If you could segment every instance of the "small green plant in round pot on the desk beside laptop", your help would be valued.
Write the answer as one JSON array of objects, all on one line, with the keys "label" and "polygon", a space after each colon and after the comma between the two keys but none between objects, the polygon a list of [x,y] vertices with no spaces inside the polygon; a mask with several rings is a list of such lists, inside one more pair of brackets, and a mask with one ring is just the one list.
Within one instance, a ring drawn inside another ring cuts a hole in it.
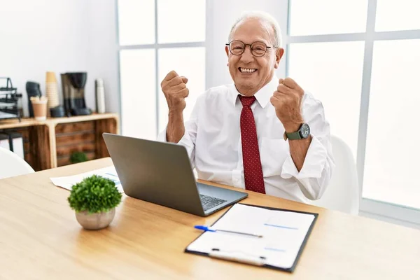
[{"label": "small green plant in round pot on the desk beside laptop", "polygon": [[86,230],[106,228],[113,220],[115,207],[121,202],[116,183],[102,176],[92,175],[71,187],[68,201],[76,211],[76,219]]}]

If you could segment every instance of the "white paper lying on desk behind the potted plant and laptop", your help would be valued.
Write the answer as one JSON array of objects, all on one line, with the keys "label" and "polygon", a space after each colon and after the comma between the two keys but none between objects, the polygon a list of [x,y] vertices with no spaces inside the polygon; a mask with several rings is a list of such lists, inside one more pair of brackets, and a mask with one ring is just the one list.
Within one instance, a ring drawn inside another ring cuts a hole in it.
[{"label": "white paper lying on desk behind the potted plant and laptop", "polygon": [[118,179],[116,169],[113,166],[105,167],[102,169],[96,169],[91,172],[86,172],[83,174],[78,174],[78,175],[73,175],[73,176],[53,177],[53,178],[50,178],[50,180],[57,187],[71,190],[71,186],[83,181],[83,179],[92,175],[99,175],[104,178],[111,179],[112,181],[114,181],[114,183],[116,183],[116,187],[118,188],[118,191],[120,193],[124,193],[123,186],[121,186],[120,179]]}]

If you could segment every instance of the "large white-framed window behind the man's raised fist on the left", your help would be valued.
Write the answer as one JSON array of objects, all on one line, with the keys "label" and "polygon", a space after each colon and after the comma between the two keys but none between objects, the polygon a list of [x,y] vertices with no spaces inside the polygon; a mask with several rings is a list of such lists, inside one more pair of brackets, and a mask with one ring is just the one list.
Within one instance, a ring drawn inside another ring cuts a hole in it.
[{"label": "large white-framed window behind the man's raised fist on the left", "polygon": [[123,135],[156,139],[165,129],[160,82],[172,70],[188,78],[188,119],[205,90],[205,30],[205,0],[118,0]]}]

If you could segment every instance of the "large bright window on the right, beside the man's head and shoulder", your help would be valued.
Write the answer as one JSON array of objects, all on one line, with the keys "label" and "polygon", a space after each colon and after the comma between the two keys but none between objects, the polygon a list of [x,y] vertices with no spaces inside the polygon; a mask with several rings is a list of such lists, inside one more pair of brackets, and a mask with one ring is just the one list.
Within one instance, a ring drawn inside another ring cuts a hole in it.
[{"label": "large bright window on the right, beside the man's head and shoulder", "polygon": [[420,1],[288,3],[286,71],[351,147],[361,210],[418,222]]}]

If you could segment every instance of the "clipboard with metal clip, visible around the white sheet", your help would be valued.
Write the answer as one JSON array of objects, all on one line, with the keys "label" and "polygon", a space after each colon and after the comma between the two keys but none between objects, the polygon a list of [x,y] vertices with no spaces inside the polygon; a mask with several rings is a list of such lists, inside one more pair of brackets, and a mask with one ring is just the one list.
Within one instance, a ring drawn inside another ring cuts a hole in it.
[{"label": "clipboard with metal clip, visible around the white sheet", "polygon": [[[307,244],[307,240],[309,239],[309,236],[311,235],[311,232],[314,228],[314,225],[316,223],[316,219],[318,218],[318,214],[317,213],[311,213],[311,212],[304,212],[304,211],[294,211],[294,210],[289,210],[289,209],[280,209],[280,208],[273,208],[273,207],[262,207],[259,205],[252,205],[252,204],[241,204],[241,203],[237,203],[239,205],[243,205],[245,207],[256,207],[258,209],[267,209],[267,210],[271,210],[271,211],[281,211],[281,212],[286,212],[286,213],[295,213],[295,214],[305,214],[309,216],[313,217],[313,220],[311,221],[309,228],[307,229],[306,234],[304,235],[302,244],[300,244],[300,248],[298,248],[297,251],[297,255],[295,256],[294,260],[293,260],[293,265],[291,265],[290,267],[281,267],[281,266],[277,266],[277,265],[269,265],[267,264],[265,258],[260,255],[244,255],[243,253],[235,253],[235,252],[228,252],[228,251],[223,251],[219,250],[216,248],[213,248],[214,251],[211,251],[210,253],[204,253],[202,251],[199,250],[193,250],[193,249],[189,249],[190,246],[192,246],[192,244],[194,244],[198,239],[202,238],[204,234],[206,234],[206,232],[202,232],[202,234],[197,237],[194,241],[192,241],[185,249],[185,253],[193,253],[193,254],[197,254],[197,255],[205,255],[211,258],[219,258],[219,259],[223,259],[223,260],[230,260],[230,261],[235,261],[235,262],[241,262],[241,263],[245,263],[248,265],[256,265],[256,266],[260,266],[260,267],[268,267],[270,269],[276,269],[276,270],[281,270],[284,272],[293,272],[297,266],[297,262],[300,259],[300,255],[302,255],[302,251],[304,250],[304,247]],[[235,207],[234,204],[232,207],[230,207],[230,209],[228,211],[226,211],[220,218],[218,218],[218,220],[216,222],[213,223],[213,225],[216,225],[216,223],[218,223],[219,221],[221,221],[226,215],[228,215],[230,213],[230,211]],[[212,225],[212,226],[213,226]],[[286,228],[286,227],[285,227]]]}]

